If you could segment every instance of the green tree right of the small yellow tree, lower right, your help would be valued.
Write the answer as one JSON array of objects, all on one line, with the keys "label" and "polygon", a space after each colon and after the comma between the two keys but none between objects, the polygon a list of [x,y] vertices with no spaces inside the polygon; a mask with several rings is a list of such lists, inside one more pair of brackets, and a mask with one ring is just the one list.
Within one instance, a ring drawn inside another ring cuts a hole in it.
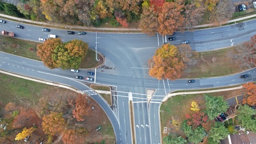
[{"label": "green tree right of the small yellow tree, lower right", "polygon": [[209,116],[209,120],[227,111],[229,107],[228,102],[223,100],[223,96],[213,97],[205,94],[205,101],[205,113]]}]

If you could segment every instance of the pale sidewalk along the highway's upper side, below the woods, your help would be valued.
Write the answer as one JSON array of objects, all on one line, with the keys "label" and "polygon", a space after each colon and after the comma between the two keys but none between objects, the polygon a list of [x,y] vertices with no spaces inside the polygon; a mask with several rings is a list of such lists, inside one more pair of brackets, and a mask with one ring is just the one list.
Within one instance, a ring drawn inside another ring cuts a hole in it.
[{"label": "pale sidewalk along the highway's upper side, below the woods", "polygon": [[[129,28],[94,28],[94,27],[86,27],[86,26],[69,26],[65,24],[56,24],[56,23],[48,23],[48,22],[39,22],[39,21],[31,21],[31,20],[26,20],[23,18],[18,18],[18,17],[13,17],[13,16],[7,16],[5,14],[0,14],[0,17],[2,18],[9,18],[12,20],[18,20],[20,22],[29,22],[31,24],[39,24],[39,25],[46,25],[46,26],[58,26],[59,28],[70,28],[70,29],[86,29],[86,31],[95,31],[95,30],[103,30],[103,31],[134,31],[134,32],[141,32],[141,29],[129,29]],[[236,21],[241,21],[241,20],[247,20],[248,18],[253,18],[256,17],[256,14],[253,14],[251,16],[246,16],[242,18],[237,18],[235,20],[230,20],[227,22],[224,22],[223,24],[228,24],[230,22],[236,22]],[[208,26],[213,26],[213,24],[204,24],[204,25],[197,25],[194,26],[194,28],[204,28]]]}]

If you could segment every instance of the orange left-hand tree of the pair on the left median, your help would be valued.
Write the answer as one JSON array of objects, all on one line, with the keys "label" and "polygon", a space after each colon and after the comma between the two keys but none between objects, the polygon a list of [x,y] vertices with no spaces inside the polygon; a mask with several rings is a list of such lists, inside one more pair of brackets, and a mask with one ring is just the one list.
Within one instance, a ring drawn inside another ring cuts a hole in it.
[{"label": "orange left-hand tree of the pair on the left median", "polygon": [[52,59],[52,54],[56,47],[61,46],[63,43],[60,38],[47,39],[43,44],[37,46],[37,55],[43,61],[44,65],[50,69],[57,67],[57,63]]}]

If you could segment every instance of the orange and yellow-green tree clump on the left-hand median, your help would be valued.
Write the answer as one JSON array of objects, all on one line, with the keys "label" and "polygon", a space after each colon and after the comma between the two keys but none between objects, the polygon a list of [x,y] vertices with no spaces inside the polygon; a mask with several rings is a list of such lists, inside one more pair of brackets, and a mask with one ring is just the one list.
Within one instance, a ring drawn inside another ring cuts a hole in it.
[{"label": "orange and yellow-green tree clump on the left-hand median", "polygon": [[61,39],[47,39],[37,46],[37,55],[50,69],[78,69],[88,50],[88,44],[82,40],[63,43]]}]

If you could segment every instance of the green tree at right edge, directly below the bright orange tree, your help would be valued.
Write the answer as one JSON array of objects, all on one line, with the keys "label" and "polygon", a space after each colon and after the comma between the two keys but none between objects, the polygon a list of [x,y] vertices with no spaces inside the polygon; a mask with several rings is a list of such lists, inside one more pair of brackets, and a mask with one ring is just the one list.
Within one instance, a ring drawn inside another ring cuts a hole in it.
[{"label": "green tree at right edge, directly below the bright orange tree", "polygon": [[236,115],[240,122],[242,122],[242,127],[256,132],[256,120],[254,118],[254,115],[256,115],[255,109],[250,108],[248,105],[239,105]]}]

